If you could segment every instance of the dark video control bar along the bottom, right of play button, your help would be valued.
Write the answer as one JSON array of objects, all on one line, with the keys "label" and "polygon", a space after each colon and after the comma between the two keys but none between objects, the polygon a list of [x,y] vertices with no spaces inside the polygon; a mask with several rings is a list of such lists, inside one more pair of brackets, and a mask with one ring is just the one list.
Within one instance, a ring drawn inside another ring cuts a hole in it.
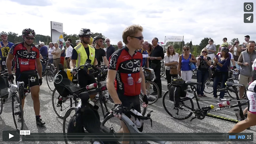
[{"label": "dark video control bar along the bottom, right of play button", "polygon": [[[230,136],[231,135],[231,136]],[[235,135],[235,136],[234,136]],[[22,136],[22,141],[64,141],[63,133],[31,133]],[[124,138],[124,139],[122,139]],[[127,138],[127,139],[126,139]],[[70,133],[67,141],[253,141],[253,133]]]}]

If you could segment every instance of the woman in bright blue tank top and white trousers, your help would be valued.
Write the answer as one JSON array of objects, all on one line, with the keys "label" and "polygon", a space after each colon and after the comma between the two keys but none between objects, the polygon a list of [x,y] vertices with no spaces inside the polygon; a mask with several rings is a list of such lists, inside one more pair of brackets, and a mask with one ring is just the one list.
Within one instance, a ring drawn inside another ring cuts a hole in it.
[{"label": "woman in bright blue tank top and white trousers", "polygon": [[196,58],[193,54],[190,54],[190,47],[184,46],[183,47],[184,54],[180,55],[179,58],[179,75],[185,81],[191,81],[193,72],[189,66],[190,62],[196,63]]}]

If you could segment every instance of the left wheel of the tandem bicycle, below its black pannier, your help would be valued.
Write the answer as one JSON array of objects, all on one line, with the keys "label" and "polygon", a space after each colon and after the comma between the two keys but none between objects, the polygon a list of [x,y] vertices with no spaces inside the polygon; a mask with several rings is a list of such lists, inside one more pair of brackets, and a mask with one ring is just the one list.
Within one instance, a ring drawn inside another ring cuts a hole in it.
[{"label": "left wheel of the tandem bicycle, below its black pannier", "polygon": [[[169,91],[166,91],[165,93],[164,93],[164,96],[163,96],[163,106],[164,106],[164,110],[170,115],[170,116],[172,116],[173,118],[175,118],[175,119],[177,119],[177,120],[186,120],[186,119],[188,119],[188,118],[190,118],[190,116],[192,116],[192,112],[190,112],[189,114],[188,114],[188,116],[185,116],[184,118],[178,118],[178,117],[176,117],[176,116],[174,116],[174,114],[171,114],[168,110],[167,110],[167,107],[166,106],[170,106],[170,104],[165,104],[165,98],[167,98],[168,99],[168,96],[167,95],[169,95]],[[169,99],[168,99],[169,100]],[[185,100],[185,101],[190,101],[190,103],[191,103],[191,108],[192,109],[194,109],[194,103],[193,103],[193,101],[192,101],[192,99],[187,99],[187,100]],[[171,101],[171,100],[169,100],[169,101]],[[174,102],[173,102],[173,104],[174,104]],[[180,103],[181,104],[181,103]],[[174,105],[173,105],[174,106]],[[179,108],[178,108],[179,109]],[[181,110],[181,109],[179,109],[179,110]]]}]

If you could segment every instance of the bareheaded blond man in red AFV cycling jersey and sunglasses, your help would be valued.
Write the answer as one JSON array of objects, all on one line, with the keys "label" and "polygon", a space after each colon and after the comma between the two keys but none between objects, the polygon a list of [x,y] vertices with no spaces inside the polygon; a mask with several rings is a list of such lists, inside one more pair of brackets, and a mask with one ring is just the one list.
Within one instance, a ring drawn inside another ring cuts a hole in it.
[{"label": "bareheaded blond man in red AFV cycling jersey and sunglasses", "polygon": [[[134,109],[140,112],[140,90],[144,94],[142,106],[148,106],[145,78],[142,72],[142,54],[138,52],[144,41],[142,30],[142,26],[138,25],[127,27],[122,35],[126,46],[110,56],[107,88],[115,103],[112,112],[118,118],[121,118],[124,106],[129,107],[131,103],[134,104]],[[126,116],[131,118],[130,114],[126,114]],[[129,130],[124,122],[121,121],[121,125],[122,128],[119,132],[128,133]]]}]

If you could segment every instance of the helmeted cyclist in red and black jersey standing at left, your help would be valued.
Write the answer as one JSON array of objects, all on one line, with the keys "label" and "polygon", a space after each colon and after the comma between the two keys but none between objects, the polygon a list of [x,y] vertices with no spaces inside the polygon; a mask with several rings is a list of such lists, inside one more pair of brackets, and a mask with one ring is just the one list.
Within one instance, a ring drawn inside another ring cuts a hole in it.
[{"label": "helmeted cyclist in red and black jersey standing at left", "polygon": [[[17,43],[10,48],[10,52],[6,59],[6,67],[8,69],[8,80],[14,79],[12,75],[12,59],[16,61],[16,82],[23,81],[24,87],[28,86],[28,79],[30,80],[30,92],[34,102],[34,111],[36,114],[36,124],[43,126],[45,122],[40,119],[40,101],[39,101],[39,86],[42,85],[42,65],[39,58],[39,50],[33,44],[35,37],[34,30],[26,28],[22,31],[23,42]],[[36,69],[38,73],[36,72]],[[38,78],[38,74],[39,77]],[[22,99],[22,109],[24,108],[25,94]]]}]

